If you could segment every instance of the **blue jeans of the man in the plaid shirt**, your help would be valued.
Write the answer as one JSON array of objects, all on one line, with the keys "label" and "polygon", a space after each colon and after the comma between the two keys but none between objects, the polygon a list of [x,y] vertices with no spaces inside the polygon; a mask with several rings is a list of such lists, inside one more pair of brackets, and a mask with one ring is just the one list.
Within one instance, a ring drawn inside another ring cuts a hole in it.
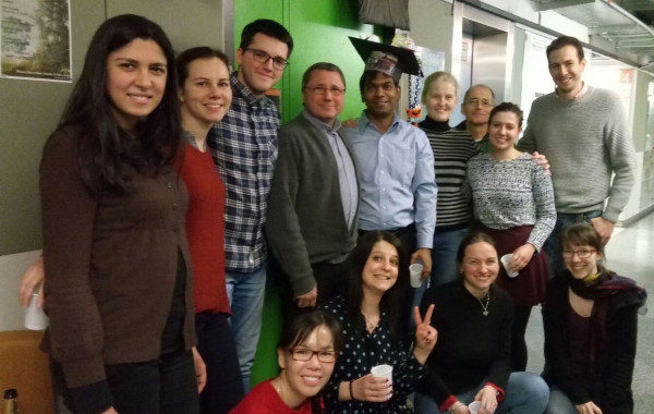
[{"label": "blue jeans of the man in the plaid shirt", "polygon": [[225,279],[232,310],[230,317],[231,331],[237,344],[243,390],[247,393],[256,345],[262,330],[262,312],[266,292],[266,266],[264,265],[261,269],[251,273],[228,271]]}]

